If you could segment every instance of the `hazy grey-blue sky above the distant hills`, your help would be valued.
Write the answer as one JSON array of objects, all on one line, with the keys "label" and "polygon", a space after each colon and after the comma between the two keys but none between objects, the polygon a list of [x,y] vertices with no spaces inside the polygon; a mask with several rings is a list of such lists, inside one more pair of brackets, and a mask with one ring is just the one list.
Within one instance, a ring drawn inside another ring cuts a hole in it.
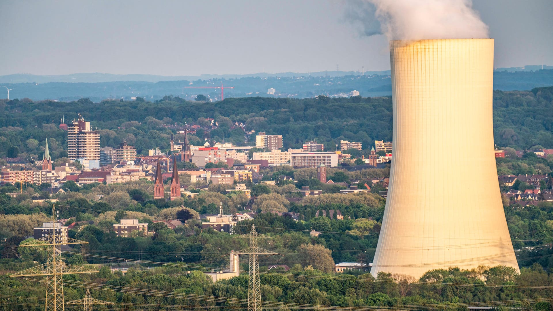
[{"label": "hazy grey-blue sky above the distant hills", "polygon": [[[0,0],[0,75],[387,70],[387,39],[346,14],[358,2]],[[473,7],[495,38],[495,67],[553,65],[553,1]]]}]

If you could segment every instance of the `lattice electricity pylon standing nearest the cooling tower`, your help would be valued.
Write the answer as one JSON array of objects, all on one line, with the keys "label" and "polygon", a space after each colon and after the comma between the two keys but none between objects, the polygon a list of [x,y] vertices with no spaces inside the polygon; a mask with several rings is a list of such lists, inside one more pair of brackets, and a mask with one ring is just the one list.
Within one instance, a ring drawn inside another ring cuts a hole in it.
[{"label": "lattice electricity pylon standing nearest the cooling tower", "polygon": [[252,231],[241,237],[249,238],[249,247],[238,251],[237,254],[249,255],[249,275],[248,275],[248,311],[261,311],[261,286],[259,283],[259,257],[258,255],[278,255],[278,253],[265,250],[257,246],[257,239],[270,236],[258,234],[255,226],[252,225]]}]

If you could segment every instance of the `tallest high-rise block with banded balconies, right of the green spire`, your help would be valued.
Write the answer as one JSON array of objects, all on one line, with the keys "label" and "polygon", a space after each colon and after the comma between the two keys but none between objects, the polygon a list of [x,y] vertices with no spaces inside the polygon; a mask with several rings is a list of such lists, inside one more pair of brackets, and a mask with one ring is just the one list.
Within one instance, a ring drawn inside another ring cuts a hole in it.
[{"label": "tallest high-rise block with banded balconies, right of the green spire", "polygon": [[67,125],[67,157],[100,160],[100,132],[91,131],[90,122],[82,117]]}]

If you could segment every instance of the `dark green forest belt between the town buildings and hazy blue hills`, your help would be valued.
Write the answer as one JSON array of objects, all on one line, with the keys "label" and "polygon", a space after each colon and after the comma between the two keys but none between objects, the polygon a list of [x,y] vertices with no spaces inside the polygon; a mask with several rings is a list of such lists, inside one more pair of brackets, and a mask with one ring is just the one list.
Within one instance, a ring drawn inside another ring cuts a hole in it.
[{"label": "dark green forest belt between the town buildings and hazy blue hills", "polygon": [[[498,147],[515,149],[540,145],[553,148],[553,87],[532,91],[494,91],[494,137]],[[219,127],[199,131],[193,143],[205,138],[225,140],[237,145],[253,144],[234,122],[246,130],[282,134],[284,148],[301,148],[304,141],[316,139],[327,150],[335,149],[340,139],[358,141],[370,149],[374,140],[392,139],[392,100],[389,97],[331,99],[271,99],[267,97],[229,98],[224,101],[185,101],[165,96],[155,102],[102,101],[74,102],[29,99],[0,101],[0,157],[40,157],[46,137],[54,158],[62,157],[65,132],[58,128],[79,113],[91,121],[101,134],[101,146],[117,146],[127,141],[139,153],[150,148],[169,147],[174,129],[164,125],[202,123],[215,118]],[[179,137],[177,137],[179,138]]]}]

